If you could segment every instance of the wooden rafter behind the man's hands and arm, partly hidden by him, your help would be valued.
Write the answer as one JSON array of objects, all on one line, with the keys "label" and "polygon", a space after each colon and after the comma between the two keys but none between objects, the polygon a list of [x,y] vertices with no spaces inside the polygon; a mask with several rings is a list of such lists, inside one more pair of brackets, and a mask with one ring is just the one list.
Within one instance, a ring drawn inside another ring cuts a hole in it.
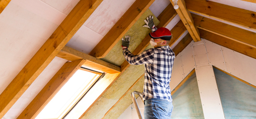
[{"label": "wooden rafter behind the man's hands and arm, partly hidden by him", "polygon": [[[157,19],[160,21],[160,23],[156,26],[156,28],[160,27],[166,27],[171,20],[177,15],[177,13],[174,11],[173,6],[169,4],[165,10],[157,17]],[[146,47],[150,44],[151,37],[147,35],[139,44],[139,46],[134,50],[133,54],[138,55],[141,52],[143,52]],[[121,65],[121,71],[124,71],[130,66],[130,64],[125,60]]]}]

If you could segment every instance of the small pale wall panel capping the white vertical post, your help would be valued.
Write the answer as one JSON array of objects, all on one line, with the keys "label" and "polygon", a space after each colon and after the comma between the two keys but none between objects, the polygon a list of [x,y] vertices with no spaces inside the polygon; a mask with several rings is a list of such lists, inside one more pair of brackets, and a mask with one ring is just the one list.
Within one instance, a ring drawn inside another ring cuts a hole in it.
[{"label": "small pale wall panel capping the white vertical post", "polygon": [[204,40],[192,43],[192,48],[196,62],[196,67],[210,65],[207,52],[205,49]]}]

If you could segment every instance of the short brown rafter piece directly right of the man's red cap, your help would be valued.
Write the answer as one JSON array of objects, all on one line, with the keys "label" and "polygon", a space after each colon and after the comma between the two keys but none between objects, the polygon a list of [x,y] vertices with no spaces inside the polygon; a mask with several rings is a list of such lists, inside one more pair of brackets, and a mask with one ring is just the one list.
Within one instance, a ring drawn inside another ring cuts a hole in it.
[{"label": "short brown rafter piece directly right of the man's red cap", "polygon": [[173,38],[172,38],[171,42],[169,43],[169,46],[171,47],[182,36],[182,34],[186,30],[187,29],[184,26],[183,22],[181,20],[178,21],[178,23],[175,25],[175,27],[171,30]]}]

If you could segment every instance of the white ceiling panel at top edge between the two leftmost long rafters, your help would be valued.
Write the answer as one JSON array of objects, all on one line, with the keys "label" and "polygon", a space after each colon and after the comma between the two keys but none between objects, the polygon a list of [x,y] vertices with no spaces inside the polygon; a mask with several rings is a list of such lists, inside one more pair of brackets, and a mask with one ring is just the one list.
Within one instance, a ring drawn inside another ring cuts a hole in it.
[{"label": "white ceiling panel at top edge between the two leftmost long rafters", "polygon": [[86,27],[105,36],[135,0],[103,0],[84,23]]}]

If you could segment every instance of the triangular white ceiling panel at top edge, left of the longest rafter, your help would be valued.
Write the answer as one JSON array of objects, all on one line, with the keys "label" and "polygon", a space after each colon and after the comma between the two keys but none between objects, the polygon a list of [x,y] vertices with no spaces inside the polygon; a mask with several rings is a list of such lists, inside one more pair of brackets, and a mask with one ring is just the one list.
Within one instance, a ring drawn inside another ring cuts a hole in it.
[{"label": "triangular white ceiling panel at top edge, left of the longest rafter", "polygon": [[41,0],[56,10],[68,14],[80,0]]}]

